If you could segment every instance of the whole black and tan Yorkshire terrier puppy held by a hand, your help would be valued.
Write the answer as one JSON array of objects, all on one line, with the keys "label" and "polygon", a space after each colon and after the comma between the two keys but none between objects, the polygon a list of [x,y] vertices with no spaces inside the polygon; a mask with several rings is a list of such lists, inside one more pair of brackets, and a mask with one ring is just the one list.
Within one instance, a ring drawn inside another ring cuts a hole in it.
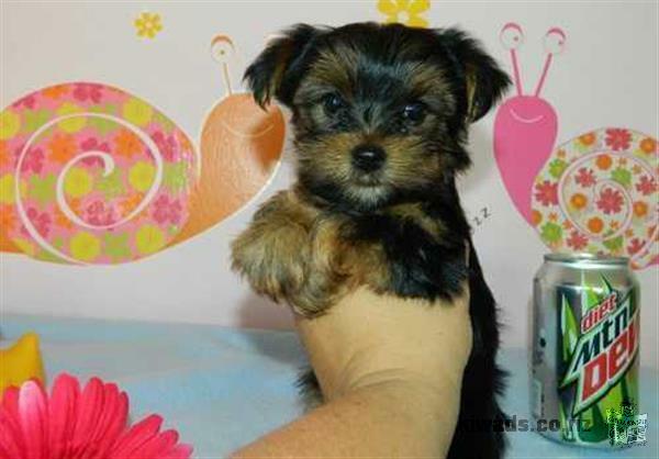
[{"label": "whole black and tan Yorkshire terrier puppy held by a hand", "polygon": [[309,317],[359,284],[432,301],[468,280],[473,350],[449,457],[502,457],[496,307],[455,182],[507,76],[458,30],[359,23],[293,26],[245,79],[259,104],[291,110],[298,181],[234,242],[234,268]]}]

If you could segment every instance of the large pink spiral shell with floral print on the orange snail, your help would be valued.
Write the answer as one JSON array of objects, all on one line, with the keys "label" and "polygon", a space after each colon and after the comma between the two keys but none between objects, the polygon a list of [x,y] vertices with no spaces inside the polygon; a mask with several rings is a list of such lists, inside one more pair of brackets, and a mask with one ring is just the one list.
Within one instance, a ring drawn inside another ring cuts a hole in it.
[{"label": "large pink spiral shell with floral print on the orange snail", "polygon": [[147,102],[74,82],[30,93],[0,116],[2,232],[21,251],[125,262],[167,246],[188,220],[194,150]]}]

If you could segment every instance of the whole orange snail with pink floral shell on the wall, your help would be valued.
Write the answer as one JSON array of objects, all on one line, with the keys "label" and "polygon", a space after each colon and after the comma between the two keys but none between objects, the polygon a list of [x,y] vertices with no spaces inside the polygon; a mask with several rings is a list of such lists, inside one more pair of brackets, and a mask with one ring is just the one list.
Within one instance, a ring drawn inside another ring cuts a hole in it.
[{"label": "whole orange snail with pink floral shell on the wall", "polygon": [[0,114],[0,249],[76,265],[136,260],[243,206],[275,173],[278,108],[233,94],[233,44],[213,40],[227,96],[209,114],[200,155],[144,100],[108,85],[34,91]]}]

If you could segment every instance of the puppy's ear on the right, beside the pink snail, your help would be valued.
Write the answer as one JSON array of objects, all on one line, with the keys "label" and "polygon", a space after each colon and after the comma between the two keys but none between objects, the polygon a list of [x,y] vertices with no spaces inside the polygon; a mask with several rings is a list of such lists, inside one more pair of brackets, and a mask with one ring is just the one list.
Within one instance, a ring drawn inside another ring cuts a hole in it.
[{"label": "puppy's ear on the right, beside the pink snail", "polygon": [[462,71],[467,121],[485,115],[511,85],[509,76],[488,55],[480,43],[465,32],[446,29],[438,32],[442,44]]}]

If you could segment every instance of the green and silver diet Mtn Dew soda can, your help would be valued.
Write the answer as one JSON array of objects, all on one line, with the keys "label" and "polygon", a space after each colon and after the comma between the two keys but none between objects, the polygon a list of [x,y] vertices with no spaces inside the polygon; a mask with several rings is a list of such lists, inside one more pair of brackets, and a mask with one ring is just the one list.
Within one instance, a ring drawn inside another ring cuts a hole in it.
[{"label": "green and silver diet Mtn Dew soda can", "polygon": [[639,305],[628,259],[545,256],[534,279],[530,413],[559,428],[536,430],[610,447],[607,414],[638,414]]}]

